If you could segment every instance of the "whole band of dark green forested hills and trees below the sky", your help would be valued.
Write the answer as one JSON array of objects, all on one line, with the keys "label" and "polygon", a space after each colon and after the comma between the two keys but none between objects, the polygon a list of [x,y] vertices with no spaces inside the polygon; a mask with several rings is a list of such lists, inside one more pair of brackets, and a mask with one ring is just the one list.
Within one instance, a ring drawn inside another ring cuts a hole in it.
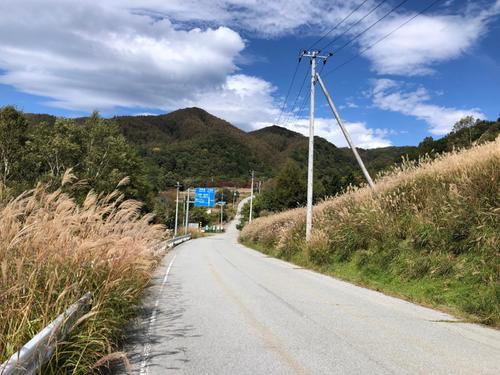
[{"label": "whole band of dark green forested hills and trees below the sky", "polygon": [[[9,107],[3,112],[20,116]],[[13,165],[14,170],[22,173],[13,170],[6,184],[15,192],[33,187],[40,177],[57,180],[68,167],[73,167],[79,178],[99,192],[111,191],[128,175],[132,178],[128,196],[144,201],[145,210],[153,210],[159,222],[173,228],[175,202],[172,194],[163,192],[172,190],[177,181],[181,189],[249,187],[253,169],[256,179],[265,182],[264,193],[270,192],[264,194],[265,200],[255,202],[256,215],[261,210],[279,211],[305,202],[305,188],[299,185],[306,175],[308,138],[279,126],[245,132],[200,108],[110,119],[95,114],[80,119],[43,114],[24,114],[24,118],[29,126],[18,124],[17,128],[26,129],[21,135],[9,134],[12,132],[8,128],[5,134],[8,147],[10,140],[17,138],[17,149],[28,150]],[[449,135],[438,140],[428,137],[418,146],[359,151],[375,175],[401,163],[403,157],[416,160],[424,154],[434,156],[457,147],[470,147],[474,142],[495,139],[500,132],[498,121],[465,120]],[[0,148],[2,133],[0,129]],[[316,137],[314,153],[315,200],[364,182],[351,150]],[[297,194],[283,201],[283,194],[273,192],[280,190],[280,181],[290,185],[291,179],[283,178],[289,172],[293,172],[291,182],[296,186],[292,190]]]}]

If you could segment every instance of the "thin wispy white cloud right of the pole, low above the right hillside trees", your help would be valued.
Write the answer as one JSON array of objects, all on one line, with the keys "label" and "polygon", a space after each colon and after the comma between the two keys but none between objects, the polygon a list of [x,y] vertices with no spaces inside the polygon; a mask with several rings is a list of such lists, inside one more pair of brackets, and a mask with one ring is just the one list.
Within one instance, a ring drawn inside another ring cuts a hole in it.
[{"label": "thin wispy white cloud right of the pole, low above the right hillside trees", "polygon": [[453,124],[464,116],[485,117],[477,108],[458,109],[429,104],[431,97],[424,87],[408,90],[402,82],[389,79],[378,79],[374,82],[372,97],[373,103],[380,109],[425,121],[434,135],[448,133]]}]

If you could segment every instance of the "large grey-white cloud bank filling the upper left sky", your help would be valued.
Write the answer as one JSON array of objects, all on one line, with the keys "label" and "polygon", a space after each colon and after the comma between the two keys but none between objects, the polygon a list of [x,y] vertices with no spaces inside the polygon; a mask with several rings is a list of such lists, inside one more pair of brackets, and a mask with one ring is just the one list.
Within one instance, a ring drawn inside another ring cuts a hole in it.
[{"label": "large grey-white cloud bank filling the upper left sky", "polygon": [[97,2],[0,3],[0,82],[70,109],[176,109],[223,86],[245,47],[226,28],[179,30]]}]

